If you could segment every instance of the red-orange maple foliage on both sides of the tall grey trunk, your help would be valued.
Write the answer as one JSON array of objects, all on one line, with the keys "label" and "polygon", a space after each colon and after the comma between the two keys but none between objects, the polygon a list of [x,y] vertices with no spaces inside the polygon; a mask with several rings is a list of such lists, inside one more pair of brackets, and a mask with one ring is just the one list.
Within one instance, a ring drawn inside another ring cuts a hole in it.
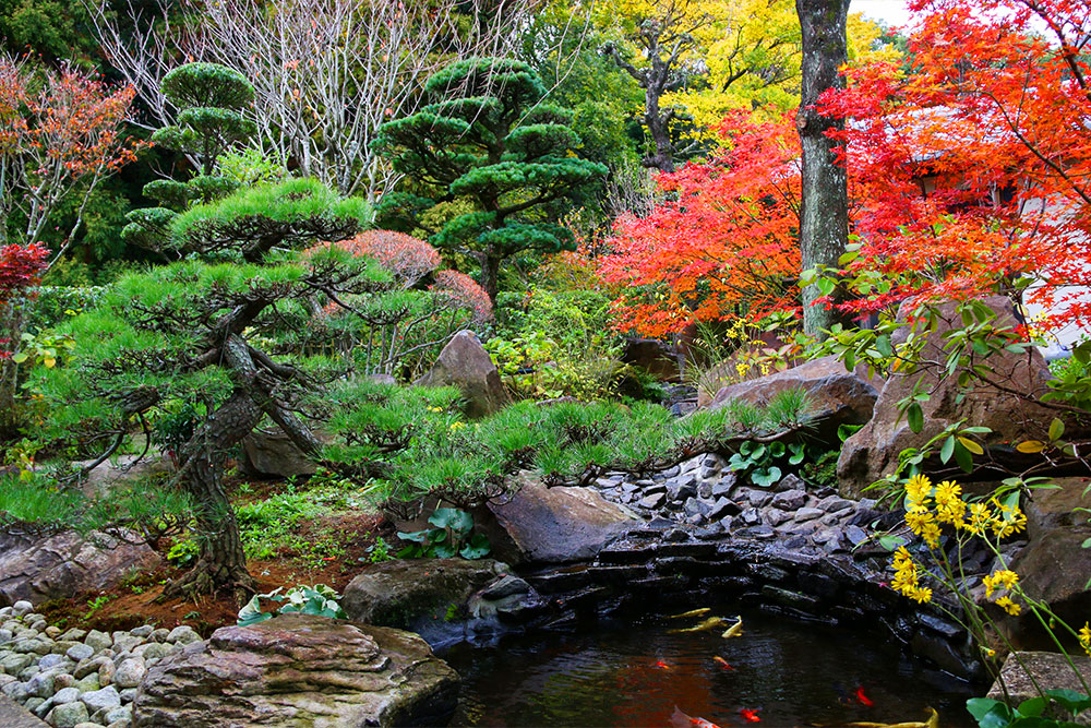
[{"label": "red-orange maple foliage on both sides of the tall grey trunk", "polygon": [[[1089,0],[915,0],[910,70],[846,70],[823,110],[847,121],[854,313],[993,293],[1091,321]],[[1042,28],[1046,28],[1043,33]],[[793,310],[799,148],[789,119],[724,121],[728,151],[661,178],[673,199],[623,217],[599,274],[616,326]],[[871,277],[866,277],[866,276]]]}]

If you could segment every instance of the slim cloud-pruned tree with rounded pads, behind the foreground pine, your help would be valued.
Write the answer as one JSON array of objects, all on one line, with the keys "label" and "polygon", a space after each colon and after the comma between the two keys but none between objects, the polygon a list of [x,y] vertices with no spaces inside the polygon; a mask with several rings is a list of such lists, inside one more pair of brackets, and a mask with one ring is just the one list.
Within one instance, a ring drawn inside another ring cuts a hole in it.
[{"label": "slim cloud-pruned tree with rounded pads, behind the foreground pine", "polygon": [[122,237],[153,249],[169,241],[175,217],[191,203],[212,202],[238,187],[233,178],[214,174],[216,159],[256,131],[242,115],[254,98],[254,87],[238,71],[216,63],[187,63],[163,77],[161,89],[178,109],[178,123],[158,129],[152,142],[185,155],[199,174],[187,182],[157,179],[144,186],[144,194],[160,206],[129,213]]}]

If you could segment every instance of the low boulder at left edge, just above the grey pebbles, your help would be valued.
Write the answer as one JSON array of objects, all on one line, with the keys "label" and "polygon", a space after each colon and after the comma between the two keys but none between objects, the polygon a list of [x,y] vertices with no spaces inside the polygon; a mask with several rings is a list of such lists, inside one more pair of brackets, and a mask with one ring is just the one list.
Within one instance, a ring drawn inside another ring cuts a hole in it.
[{"label": "low boulder at left edge, just above the grey pebbles", "polygon": [[158,561],[143,544],[94,532],[44,538],[0,533],[0,606],[22,599],[39,605],[98,592],[120,582],[130,570],[154,569]]}]

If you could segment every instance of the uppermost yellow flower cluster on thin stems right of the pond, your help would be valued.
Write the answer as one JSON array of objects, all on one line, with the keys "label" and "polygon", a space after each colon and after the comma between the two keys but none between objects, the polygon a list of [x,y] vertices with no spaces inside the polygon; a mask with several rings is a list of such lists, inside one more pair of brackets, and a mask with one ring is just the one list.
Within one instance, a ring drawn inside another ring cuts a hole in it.
[{"label": "uppermost yellow flower cluster on thin stems right of the pond", "polygon": [[906,524],[930,548],[939,545],[943,524],[975,536],[992,533],[997,538],[1017,534],[1027,527],[1027,515],[1018,505],[1005,505],[993,498],[988,503],[968,503],[962,487],[951,480],[933,486],[924,475],[914,475],[906,484]]}]

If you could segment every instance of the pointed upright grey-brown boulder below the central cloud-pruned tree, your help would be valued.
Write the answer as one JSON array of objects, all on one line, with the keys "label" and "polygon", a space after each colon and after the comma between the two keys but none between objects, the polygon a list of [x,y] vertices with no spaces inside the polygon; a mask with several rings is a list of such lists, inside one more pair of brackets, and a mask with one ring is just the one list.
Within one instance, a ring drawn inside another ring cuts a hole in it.
[{"label": "pointed upright grey-brown boulder below the central cloud-pruned tree", "polygon": [[460,331],[440,351],[432,368],[415,382],[420,386],[457,386],[467,417],[491,415],[511,403],[500,372],[472,331]]}]

